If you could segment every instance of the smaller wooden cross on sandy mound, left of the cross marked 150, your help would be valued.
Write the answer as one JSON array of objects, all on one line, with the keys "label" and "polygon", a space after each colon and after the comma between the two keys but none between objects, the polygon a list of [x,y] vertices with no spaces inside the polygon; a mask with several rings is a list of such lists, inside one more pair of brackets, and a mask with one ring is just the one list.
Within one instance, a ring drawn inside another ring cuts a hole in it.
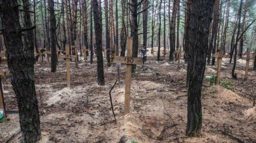
[{"label": "smaller wooden cross on sandy mound, left of the cross marked 150", "polygon": [[67,67],[67,87],[70,88],[70,59],[76,59],[76,55],[69,54],[69,44],[66,46],[66,55],[60,54],[58,58],[66,59],[66,67]]}]

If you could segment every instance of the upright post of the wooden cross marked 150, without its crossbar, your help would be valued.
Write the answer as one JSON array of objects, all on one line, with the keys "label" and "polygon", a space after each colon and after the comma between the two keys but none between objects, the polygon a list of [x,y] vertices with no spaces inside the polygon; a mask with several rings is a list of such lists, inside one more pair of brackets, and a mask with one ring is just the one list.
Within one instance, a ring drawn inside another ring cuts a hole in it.
[{"label": "upright post of the wooden cross marked 150, without its crossbar", "polygon": [[[133,56],[133,37],[127,37],[127,56]],[[126,65],[124,114],[130,113],[132,65]]]}]

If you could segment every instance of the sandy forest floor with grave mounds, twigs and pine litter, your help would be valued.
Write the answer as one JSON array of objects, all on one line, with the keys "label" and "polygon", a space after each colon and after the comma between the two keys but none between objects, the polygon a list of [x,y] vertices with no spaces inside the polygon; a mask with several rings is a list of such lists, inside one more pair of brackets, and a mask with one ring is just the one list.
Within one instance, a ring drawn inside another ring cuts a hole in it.
[{"label": "sandy forest floor with grave mounds, twigs and pine litter", "polygon": [[[256,142],[256,109],[252,108],[256,72],[251,62],[247,80],[243,80],[244,60],[238,60],[238,79],[232,79],[233,64],[223,59],[222,85],[203,82],[202,134],[186,137],[186,64],[181,60],[178,68],[177,62],[156,62],[148,55],[132,75],[131,113],[127,115],[123,113],[126,66],[120,68],[121,83],[111,93],[117,122],[111,122],[109,97],[117,79],[115,66],[104,64],[105,85],[99,86],[96,58],[92,65],[81,58],[78,68],[71,62],[71,88],[66,88],[65,61],[59,60],[55,73],[46,63],[37,63],[34,79],[42,113],[39,142]],[[6,66],[0,69],[7,71]],[[207,65],[205,76],[216,71],[216,65]],[[10,80],[8,72],[3,84],[9,121],[0,123],[0,142],[22,138]]]}]

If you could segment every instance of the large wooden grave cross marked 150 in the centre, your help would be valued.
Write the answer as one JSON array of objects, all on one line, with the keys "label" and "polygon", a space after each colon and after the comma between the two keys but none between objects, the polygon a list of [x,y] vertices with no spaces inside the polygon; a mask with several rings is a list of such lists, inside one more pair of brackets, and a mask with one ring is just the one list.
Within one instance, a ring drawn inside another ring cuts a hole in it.
[{"label": "large wooden grave cross marked 150 in the centre", "polygon": [[127,56],[114,56],[114,63],[126,64],[124,114],[130,113],[132,65],[142,65],[141,58],[132,58],[133,37],[127,37]]}]

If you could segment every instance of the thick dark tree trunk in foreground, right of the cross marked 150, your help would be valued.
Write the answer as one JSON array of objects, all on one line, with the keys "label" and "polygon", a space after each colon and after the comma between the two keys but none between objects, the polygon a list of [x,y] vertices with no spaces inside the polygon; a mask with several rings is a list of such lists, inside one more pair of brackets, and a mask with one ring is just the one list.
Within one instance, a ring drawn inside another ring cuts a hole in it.
[{"label": "thick dark tree trunk in foreground, right of the cross marked 150", "polygon": [[204,78],[208,35],[214,1],[191,1],[188,42],[188,97],[186,135],[198,136],[202,127],[201,91]]}]

